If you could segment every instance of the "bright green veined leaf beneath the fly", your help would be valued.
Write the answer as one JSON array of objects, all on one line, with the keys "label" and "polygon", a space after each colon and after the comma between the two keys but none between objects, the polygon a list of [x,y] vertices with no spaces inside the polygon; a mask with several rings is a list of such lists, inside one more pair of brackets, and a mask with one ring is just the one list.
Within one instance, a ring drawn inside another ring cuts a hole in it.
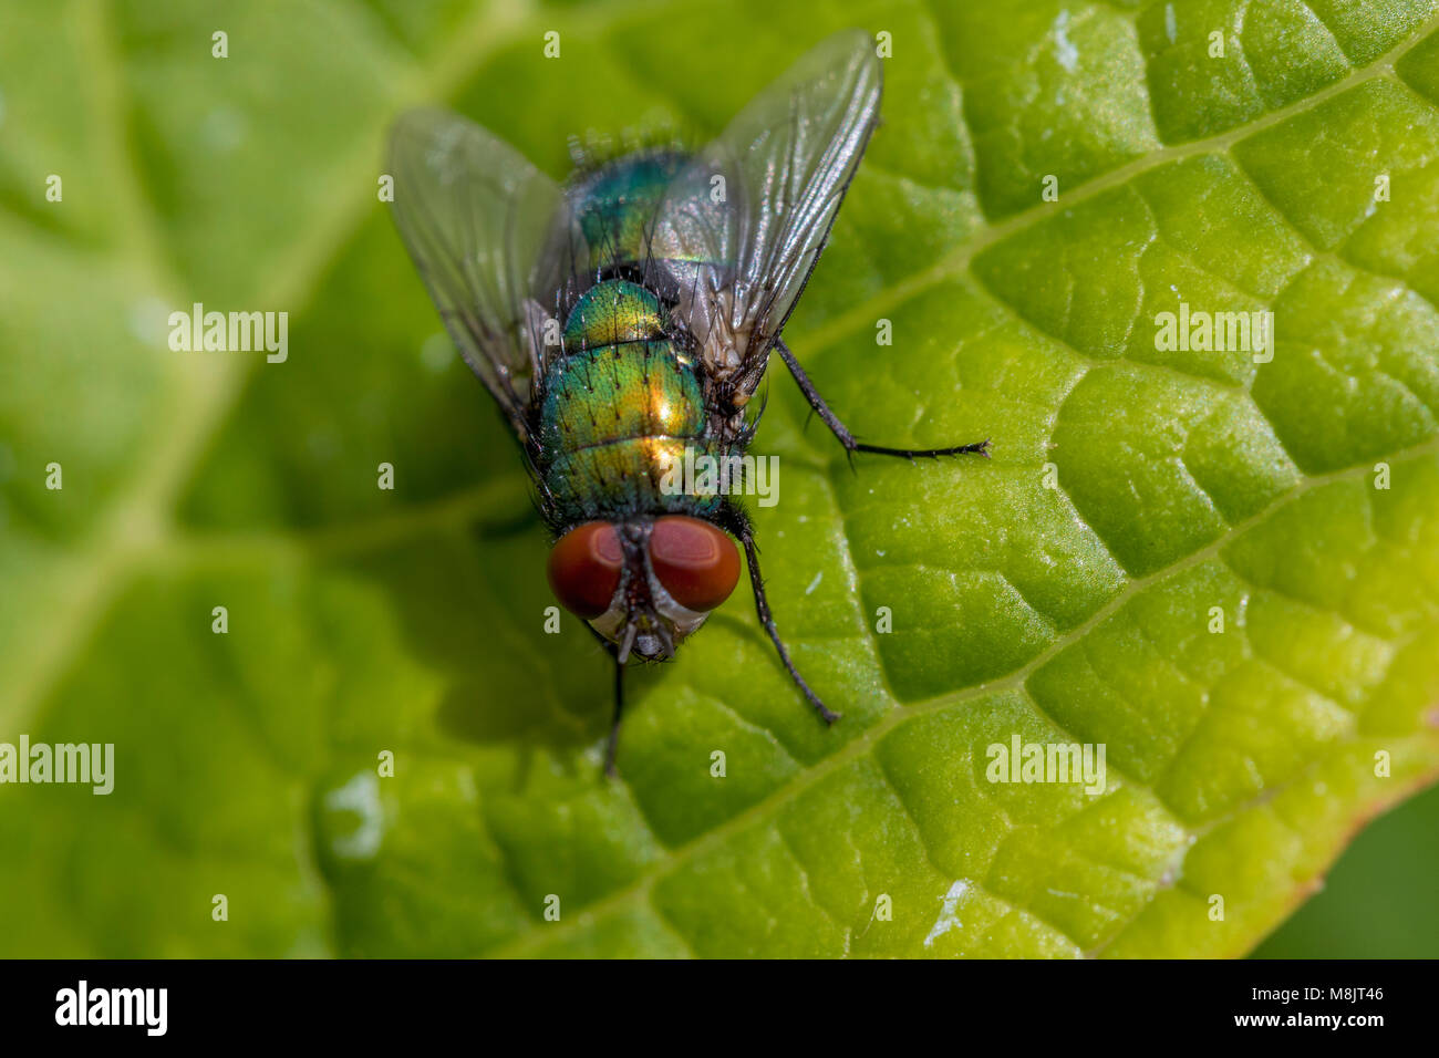
[{"label": "bright green veined leaf beneath the fly", "polygon": [[[1439,772],[1429,0],[40,12],[0,35],[0,741],[117,759],[0,787],[4,954],[1240,954]],[[787,338],[861,436],[994,458],[850,472],[774,377],[764,570],[845,717],[741,589],[632,674],[606,782],[607,659],[544,632],[380,138],[448,102],[561,176],[848,24],[885,121]],[[171,351],[196,301],[289,312],[288,360]],[[1180,302],[1272,311],[1272,361],[1160,350]],[[990,782],[1016,737],[1104,744],[1105,790]]]}]

